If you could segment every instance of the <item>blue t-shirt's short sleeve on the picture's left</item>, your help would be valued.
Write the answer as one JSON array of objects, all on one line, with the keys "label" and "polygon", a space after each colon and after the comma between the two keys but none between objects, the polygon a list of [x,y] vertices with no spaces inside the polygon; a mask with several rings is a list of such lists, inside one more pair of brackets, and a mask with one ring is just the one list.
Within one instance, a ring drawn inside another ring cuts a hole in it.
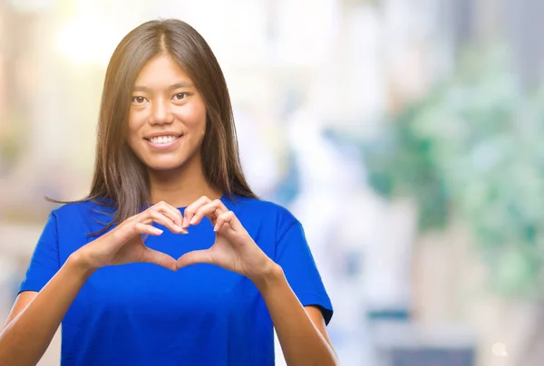
[{"label": "blue t-shirt's short sleeve on the picture's left", "polygon": [[59,267],[57,217],[52,212],[34,248],[34,254],[30,259],[30,265],[26,270],[19,293],[24,291],[41,291],[44,285],[57,273]]}]

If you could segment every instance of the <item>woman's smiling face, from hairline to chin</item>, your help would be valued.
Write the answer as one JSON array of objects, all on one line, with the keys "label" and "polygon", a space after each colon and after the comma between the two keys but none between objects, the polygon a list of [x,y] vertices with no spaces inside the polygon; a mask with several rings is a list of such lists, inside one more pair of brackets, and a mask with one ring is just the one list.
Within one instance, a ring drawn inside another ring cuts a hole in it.
[{"label": "woman's smiling face, from hairline to chin", "polygon": [[183,166],[200,154],[206,107],[194,83],[169,55],[142,68],[131,97],[127,141],[150,169]]}]

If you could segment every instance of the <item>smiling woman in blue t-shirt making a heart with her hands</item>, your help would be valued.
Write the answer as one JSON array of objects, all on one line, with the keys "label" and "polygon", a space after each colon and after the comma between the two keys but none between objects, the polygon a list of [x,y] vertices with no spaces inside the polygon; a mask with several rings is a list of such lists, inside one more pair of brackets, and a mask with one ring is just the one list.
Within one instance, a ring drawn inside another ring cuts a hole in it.
[{"label": "smiling woman in blue t-shirt making a heart with her hands", "polygon": [[[316,215],[319,215],[316,212]],[[127,34],[106,72],[91,192],[53,210],[0,333],[34,365],[333,365],[332,306],[300,223],[260,200],[228,89],[179,20]]]}]

